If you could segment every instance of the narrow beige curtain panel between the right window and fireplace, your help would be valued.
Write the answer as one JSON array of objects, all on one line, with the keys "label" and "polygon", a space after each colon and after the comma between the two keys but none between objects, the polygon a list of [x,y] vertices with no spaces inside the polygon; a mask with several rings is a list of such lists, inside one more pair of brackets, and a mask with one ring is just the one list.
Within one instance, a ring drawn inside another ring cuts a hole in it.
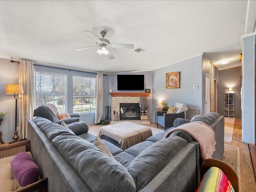
[{"label": "narrow beige curtain panel between the right window and fireplace", "polygon": [[95,105],[95,124],[100,122],[103,114],[103,74],[96,75],[96,105]]}]

